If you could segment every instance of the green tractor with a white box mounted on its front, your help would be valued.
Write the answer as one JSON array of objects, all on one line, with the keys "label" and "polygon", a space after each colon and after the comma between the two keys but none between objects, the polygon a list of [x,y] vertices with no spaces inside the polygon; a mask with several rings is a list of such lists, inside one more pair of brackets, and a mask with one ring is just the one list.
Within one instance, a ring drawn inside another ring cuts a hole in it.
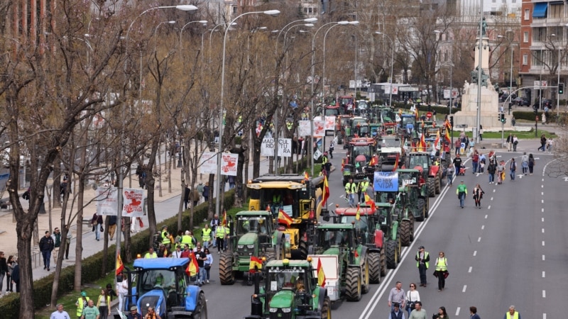
[{"label": "green tractor with a white box mounted on its front", "polygon": [[316,226],[315,254],[308,257],[322,264],[331,301],[343,296],[347,301],[360,301],[370,289],[367,247],[357,237],[354,224]]}]

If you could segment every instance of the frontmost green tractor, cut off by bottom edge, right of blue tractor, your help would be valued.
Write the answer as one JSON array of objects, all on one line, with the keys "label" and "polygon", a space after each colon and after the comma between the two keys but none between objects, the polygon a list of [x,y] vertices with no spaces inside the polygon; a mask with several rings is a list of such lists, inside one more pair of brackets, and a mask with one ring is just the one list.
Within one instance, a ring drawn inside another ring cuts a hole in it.
[{"label": "frontmost green tractor, cut off by bottom edge, right of blue tractor", "polygon": [[311,258],[264,264],[254,274],[251,315],[245,319],[331,319],[331,301],[325,284],[318,285],[316,267]]}]

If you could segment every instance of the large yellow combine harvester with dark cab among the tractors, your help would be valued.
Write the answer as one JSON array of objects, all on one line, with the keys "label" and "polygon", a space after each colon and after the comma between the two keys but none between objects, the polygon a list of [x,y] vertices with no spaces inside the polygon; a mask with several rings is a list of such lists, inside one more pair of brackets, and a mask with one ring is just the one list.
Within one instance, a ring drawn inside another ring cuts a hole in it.
[{"label": "large yellow combine harvester with dark cab among the tractors", "polygon": [[264,175],[249,181],[249,210],[270,210],[275,220],[280,210],[292,223],[280,229],[285,235],[286,258],[306,259],[307,242],[313,236],[315,221],[322,212],[324,177],[305,179],[300,174]]}]

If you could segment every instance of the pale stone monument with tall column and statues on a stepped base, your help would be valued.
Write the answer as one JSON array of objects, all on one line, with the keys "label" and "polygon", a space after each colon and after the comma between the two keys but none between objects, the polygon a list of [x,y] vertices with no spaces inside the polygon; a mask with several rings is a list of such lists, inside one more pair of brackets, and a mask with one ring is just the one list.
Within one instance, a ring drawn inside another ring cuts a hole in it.
[{"label": "pale stone monument with tall column and statues on a stepped base", "polygon": [[[484,18],[485,20],[485,18]],[[485,21],[484,21],[485,23]],[[501,111],[501,106],[499,105],[499,94],[491,85],[491,80],[488,78],[489,74],[489,38],[485,35],[485,24],[483,28],[483,37],[481,38],[481,103],[479,107],[481,108],[481,118],[479,123],[484,128],[499,128],[501,129],[501,121],[498,119],[498,114]],[[475,128],[477,119],[477,77],[479,75],[479,41],[475,45],[475,65],[474,71],[471,72],[471,83],[467,81],[464,84],[464,91],[461,96],[461,111],[454,114],[454,125],[456,129],[459,129],[460,124],[466,124],[468,130]],[[507,109],[503,110],[507,111]],[[506,127],[510,127],[510,116],[506,116],[507,123]]]}]

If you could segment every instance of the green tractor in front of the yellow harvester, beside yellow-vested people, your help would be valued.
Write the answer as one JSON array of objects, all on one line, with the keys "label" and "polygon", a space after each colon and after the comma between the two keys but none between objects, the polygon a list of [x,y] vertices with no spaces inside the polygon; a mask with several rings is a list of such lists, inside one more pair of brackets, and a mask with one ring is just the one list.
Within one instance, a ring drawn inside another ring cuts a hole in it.
[{"label": "green tractor in front of the yellow harvester, beside yellow-vested people", "polygon": [[228,250],[219,257],[219,279],[222,285],[231,285],[246,273],[252,284],[251,257],[283,259],[285,235],[276,229],[269,211],[241,211],[230,225]]}]

